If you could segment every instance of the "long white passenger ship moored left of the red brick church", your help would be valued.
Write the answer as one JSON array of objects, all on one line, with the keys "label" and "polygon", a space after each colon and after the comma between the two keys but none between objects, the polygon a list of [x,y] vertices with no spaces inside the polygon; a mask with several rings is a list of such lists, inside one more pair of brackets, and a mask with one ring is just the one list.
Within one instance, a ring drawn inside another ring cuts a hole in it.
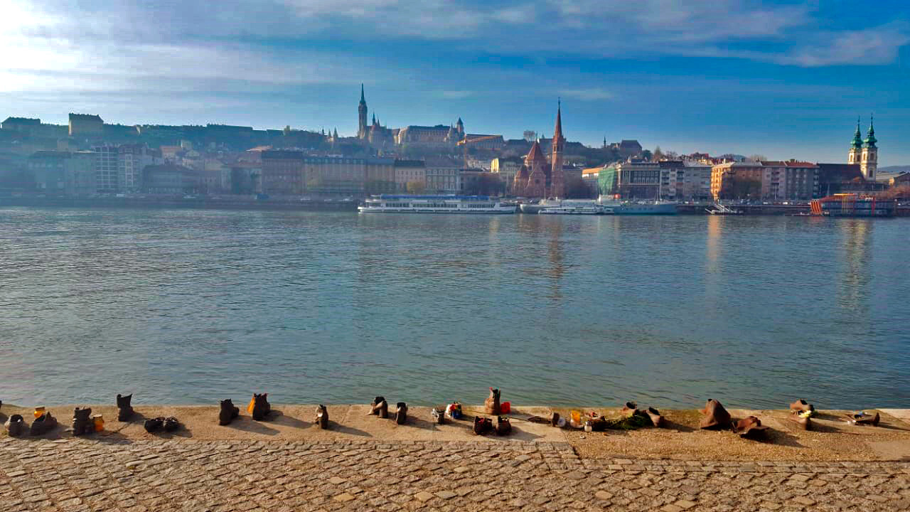
[{"label": "long white passenger ship moored left of the red brick church", "polygon": [[364,200],[360,213],[515,213],[515,205],[487,196],[403,196],[382,194]]}]

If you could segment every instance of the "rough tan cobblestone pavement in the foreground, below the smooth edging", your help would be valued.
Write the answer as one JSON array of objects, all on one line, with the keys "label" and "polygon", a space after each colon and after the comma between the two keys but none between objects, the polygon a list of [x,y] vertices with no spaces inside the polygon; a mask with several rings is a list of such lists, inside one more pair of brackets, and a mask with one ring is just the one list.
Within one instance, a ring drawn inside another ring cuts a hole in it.
[{"label": "rough tan cobblestone pavement in the foreground, below the smooth edging", "polygon": [[0,510],[907,510],[910,463],[580,459],[562,443],[0,439]]}]

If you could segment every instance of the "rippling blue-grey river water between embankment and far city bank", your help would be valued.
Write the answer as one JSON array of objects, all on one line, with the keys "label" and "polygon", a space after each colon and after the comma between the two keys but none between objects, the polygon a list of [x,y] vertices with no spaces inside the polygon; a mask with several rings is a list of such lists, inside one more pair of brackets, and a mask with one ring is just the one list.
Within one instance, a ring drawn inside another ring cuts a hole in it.
[{"label": "rippling blue-grey river water between embankment and far city bank", "polygon": [[15,404],[910,406],[910,220],[0,209]]}]

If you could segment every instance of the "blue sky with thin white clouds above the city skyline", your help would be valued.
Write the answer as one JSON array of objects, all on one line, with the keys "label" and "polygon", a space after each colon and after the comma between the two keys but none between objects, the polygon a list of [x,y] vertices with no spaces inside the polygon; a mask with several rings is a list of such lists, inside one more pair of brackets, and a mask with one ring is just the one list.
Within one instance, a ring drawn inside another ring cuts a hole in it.
[{"label": "blue sky with thin white clouds above the city skyline", "polygon": [[[132,4],[132,5],[131,5]],[[910,164],[910,3],[0,0],[0,118],[391,128]]]}]

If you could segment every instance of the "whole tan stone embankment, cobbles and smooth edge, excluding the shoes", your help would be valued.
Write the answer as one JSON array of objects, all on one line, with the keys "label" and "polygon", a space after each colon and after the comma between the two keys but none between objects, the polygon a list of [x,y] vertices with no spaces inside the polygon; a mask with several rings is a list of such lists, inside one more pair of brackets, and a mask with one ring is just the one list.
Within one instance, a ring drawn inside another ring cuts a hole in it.
[{"label": "whole tan stone embankment, cobbles and smooth edge, excluding the shoes", "polygon": [[[363,405],[332,406],[330,430],[319,430],[303,405],[227,426],[216,425],[216,407],[134,407],[138,419],[177,415],[183,427],[151,435],[93,407],[104,433],[74,438],[62,425],[40,438],[0,436],[0,510],[910,509],[902,410],[883,410],[878,427],[823,412],[813,432],[788,425],[784,411],[731,410],[772,426],[759,442],[694,429],[692,411],[665,412],[666,429],[585,434],[522,421],[550,411],[522,408],[514,435],[478,437],[470,408],[464,421],[434,425],[413,407],[395,425]],[[68,423],[72,408],[49,409]],[[3,406],[18,411],[28,412]]]}]

